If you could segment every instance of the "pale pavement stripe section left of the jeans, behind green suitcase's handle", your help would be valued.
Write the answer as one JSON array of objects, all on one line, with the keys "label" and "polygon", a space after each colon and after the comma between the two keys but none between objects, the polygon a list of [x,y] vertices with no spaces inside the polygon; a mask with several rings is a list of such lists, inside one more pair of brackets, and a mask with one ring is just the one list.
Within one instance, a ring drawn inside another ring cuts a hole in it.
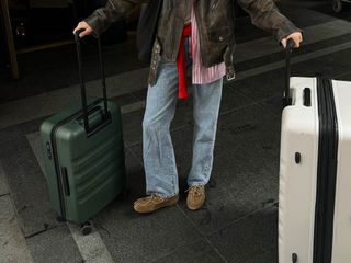
[{"label": "pale pavement stripe section left of the jeans, behind green suitcase's handle", "polygon": [[[143,68],[107,78],[109,98],[145,89],[147,87],[147,76],[148,68]],[[89,96],[101,96],[101,92],[100,80],[87,83]],[[55,114],[73,103],[80,103],[78,85],[0,104],[0,129]]]}]

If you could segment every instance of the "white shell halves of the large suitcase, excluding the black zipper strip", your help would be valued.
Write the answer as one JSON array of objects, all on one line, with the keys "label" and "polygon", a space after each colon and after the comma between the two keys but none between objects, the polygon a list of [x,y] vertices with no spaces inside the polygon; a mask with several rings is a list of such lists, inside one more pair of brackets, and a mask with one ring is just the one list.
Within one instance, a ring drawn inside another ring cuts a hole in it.
[{"label": "white shell halves of the large suitcase, excluding the black zipper strip", "polygon": [[[317,79],[292,78],[291,87],[293,105],[285,107],[282,115],[279,262],[292,263],[296,260],[296,263],[314,263],[320,128]],[[307,87],[312,91],[310,106],[304,105],[304,89]],[[332,81],[332,90],[339,141],[331,262],[350,263],[351,83]]]}]

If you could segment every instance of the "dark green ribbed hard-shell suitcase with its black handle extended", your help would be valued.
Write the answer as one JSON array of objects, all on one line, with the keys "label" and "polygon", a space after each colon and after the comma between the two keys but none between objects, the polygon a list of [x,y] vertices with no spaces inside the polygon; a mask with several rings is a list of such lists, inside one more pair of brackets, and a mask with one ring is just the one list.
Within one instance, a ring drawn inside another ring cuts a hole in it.
[{"label": "dark green ribbed hard-shell suitcase with its black handle extended", "polygon": [[125,163],[121,112],[106,100],[100,38],[103,99],[89,102],[79,32],[76,44],[82,106],[72,105],[46,119],[41,125],[41,138],[53,209],[65,220],[84,224],[123,192]]}]

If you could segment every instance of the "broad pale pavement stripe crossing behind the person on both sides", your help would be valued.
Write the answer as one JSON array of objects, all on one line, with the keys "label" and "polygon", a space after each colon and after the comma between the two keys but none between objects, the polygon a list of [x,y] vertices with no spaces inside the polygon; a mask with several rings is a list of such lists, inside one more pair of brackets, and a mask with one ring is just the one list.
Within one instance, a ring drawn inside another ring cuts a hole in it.
[{"label": "broad pale pavement stripe crossing behind the person on both sides", "polygon": [[[304,30],[306,38],[305,44],[313,44],[350,33],[351,23],[343,20],[335,20]],[[246,61],[280,50],[281,48],[272,37],[264,37],[262,39],[238,45],[235,60],[237,62]],[[146,89],[147,76],[148,68],[143,68],[107,78],[109,96],[118,96]],[[99,80],[87,83],[87,87],[88,94],[101,96],[101,84]],[[0,129],[57,113],[79,101],[79,87],[73,85],[0,104]]]}]

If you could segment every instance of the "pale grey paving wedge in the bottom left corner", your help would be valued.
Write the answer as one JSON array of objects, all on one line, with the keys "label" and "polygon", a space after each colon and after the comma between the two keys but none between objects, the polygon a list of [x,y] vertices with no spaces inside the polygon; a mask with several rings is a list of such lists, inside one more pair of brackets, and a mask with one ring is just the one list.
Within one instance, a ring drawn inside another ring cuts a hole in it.
[{"label": "pale grey paving wedge in the bottom left corner", "polygon": [[0,197],[0,262],[33,263],[10,195]]}]

